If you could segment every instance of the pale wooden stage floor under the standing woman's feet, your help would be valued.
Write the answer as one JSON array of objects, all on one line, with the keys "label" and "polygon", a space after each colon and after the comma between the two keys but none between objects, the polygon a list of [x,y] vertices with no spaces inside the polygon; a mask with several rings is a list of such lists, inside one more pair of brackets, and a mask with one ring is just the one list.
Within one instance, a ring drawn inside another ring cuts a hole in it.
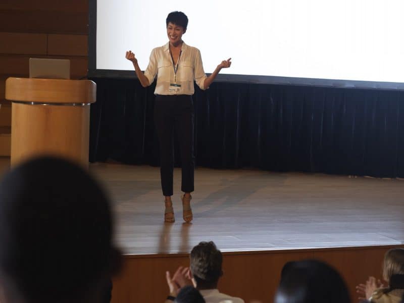
[{"label": "pale wooden stage floor under the standing woman's feet", "polygon": [[197,168],[185,224],[175,169],[176,222],[165,224],[159,170],[90,164],[113,197],[127,255],[186,253],[209,240],[227,252],[404,243],[404,180]]}]

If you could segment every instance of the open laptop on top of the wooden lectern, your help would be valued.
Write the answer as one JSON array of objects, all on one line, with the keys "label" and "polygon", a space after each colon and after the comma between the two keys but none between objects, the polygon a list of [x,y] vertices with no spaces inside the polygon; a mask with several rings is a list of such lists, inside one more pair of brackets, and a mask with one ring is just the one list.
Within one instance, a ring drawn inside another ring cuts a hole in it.
[{"label": "open laptop on top of the wooden lectern", "polygon": [[29,77],[70,79],[70,60],[29,58]]}]

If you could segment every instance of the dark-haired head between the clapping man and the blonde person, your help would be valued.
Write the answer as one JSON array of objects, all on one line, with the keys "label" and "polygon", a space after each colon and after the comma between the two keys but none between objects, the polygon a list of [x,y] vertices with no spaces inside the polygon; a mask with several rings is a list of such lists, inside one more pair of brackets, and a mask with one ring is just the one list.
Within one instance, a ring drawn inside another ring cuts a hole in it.
[{"label": "dark-haired head between the clapping man and the blonde person", "polygon": [[275,303],[325,302],[350,302],[346,284],[335,269],[316,260],[285,264]]}]

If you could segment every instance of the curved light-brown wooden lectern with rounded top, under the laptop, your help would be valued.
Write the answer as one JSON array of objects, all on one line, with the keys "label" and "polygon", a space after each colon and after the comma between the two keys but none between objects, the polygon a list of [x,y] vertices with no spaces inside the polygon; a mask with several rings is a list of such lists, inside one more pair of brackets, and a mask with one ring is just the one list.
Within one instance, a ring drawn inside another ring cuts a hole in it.
[{"label": "curved light-brown wooden lectern with rounded top, under the laptop", "polygon": [[90,104],[95,93],[96,84],[89,80],[8,78],[11,165],[51,155],[87,167]]}]

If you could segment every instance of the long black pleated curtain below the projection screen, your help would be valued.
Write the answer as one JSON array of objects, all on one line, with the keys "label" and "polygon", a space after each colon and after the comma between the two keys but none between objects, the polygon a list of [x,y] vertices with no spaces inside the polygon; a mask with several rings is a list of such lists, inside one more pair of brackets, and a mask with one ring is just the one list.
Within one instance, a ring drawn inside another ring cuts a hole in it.
[{"label": "long black pleated curtain below the projection screen", "polygon": [[[158,166],[154,85],[92,80],[90,161]],[[402,91],[213,83],[193,102],[197,166],[404,177]]]}]

